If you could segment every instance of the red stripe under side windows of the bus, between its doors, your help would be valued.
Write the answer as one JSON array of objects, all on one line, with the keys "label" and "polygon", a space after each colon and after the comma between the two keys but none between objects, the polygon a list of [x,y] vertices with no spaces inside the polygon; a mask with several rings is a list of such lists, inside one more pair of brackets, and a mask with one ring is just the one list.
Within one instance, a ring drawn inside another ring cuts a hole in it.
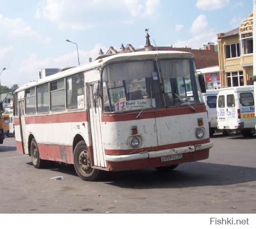
[{"label": "red stripe under side windows of the bus, between its doors", "polygon": [[43,116],[28,116],[26,124],[50,124],[50,123],[71,123],[88,122],[87,111],[45,114]]}]

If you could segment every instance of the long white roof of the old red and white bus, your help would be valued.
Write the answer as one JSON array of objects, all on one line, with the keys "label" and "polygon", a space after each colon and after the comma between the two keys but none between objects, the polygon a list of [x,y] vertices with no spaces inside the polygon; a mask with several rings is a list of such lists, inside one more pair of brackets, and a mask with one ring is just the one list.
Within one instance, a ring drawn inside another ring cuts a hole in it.
[{"label": "long white roof of the old red and white bus", "polygon": [[73,75],[79,72],[84,72],[93,68],[95,69],[98,67],[102,67],[103,65],[111,62],[118,62],[118,61],[125,61],[125,60],[130,61],[130,60],[143,60],[143,59],[165,59],[165,58],[191,59],[191,58],[194,58],[194,54],[188,53],[188,52],[180,52],[180,51],[144,51],[144,52],[113,54],[113,55],[102,55],[102,58],[101,56],[98,56],[93,62],[76,66],[76,67],[71,67],[65,71],[61,71],[51,76],[29,82],[19,87],[18,89],[16,89],[15,93],[38,84],[57,80],[65,76],[70,76],[70,75]]}]

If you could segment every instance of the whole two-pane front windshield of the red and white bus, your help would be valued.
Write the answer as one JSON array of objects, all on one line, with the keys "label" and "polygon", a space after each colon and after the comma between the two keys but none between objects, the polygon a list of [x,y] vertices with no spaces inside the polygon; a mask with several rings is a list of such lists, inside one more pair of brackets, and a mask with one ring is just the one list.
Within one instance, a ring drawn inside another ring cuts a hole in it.
[{"label": "whole two-pane front windshield of the red and white bus", "polygon": [[160,60],[163,95],[161,95],[156,62],[114,63],[103,68],[103,109],[123,112],[141,109],[197,104],[203,101],[195,77],[193,60]]}]

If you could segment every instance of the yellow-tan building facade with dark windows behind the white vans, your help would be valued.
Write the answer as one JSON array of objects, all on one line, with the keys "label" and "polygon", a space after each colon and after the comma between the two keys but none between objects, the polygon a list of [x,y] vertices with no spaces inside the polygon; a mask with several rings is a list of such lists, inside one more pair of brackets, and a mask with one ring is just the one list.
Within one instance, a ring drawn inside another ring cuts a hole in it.
[{"label": "yellow-tan building facade with dark windows behind the white vans", "polygon": [[220,81],[222,87],[252,84],[253,13],[239,28],[217,34]]}]

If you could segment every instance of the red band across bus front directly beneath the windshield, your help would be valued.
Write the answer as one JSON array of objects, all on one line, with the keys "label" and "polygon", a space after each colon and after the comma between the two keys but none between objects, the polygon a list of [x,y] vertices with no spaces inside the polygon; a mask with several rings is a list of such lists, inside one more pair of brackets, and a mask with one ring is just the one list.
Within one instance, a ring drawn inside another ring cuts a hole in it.
[{"label": "red band across bus front directly beneath the windshield", "polygon": [[202,113],[206,112],[205,105],[193,105],[197,111],[191,110],[189,106],[183,107],[168,107],[157,110],[145,110],[140,118],[136,119],[136,116],[140,112],[123,112],[115,114],[104,114],[102,112],[101,120],[102,122],[120,122],[120,121],[132,121],[132,120],[141,120],[141,119],[153,119],[160,117],[169,117],[169,116],[180,116],[182,114],[193,114],[193,113]]}]

